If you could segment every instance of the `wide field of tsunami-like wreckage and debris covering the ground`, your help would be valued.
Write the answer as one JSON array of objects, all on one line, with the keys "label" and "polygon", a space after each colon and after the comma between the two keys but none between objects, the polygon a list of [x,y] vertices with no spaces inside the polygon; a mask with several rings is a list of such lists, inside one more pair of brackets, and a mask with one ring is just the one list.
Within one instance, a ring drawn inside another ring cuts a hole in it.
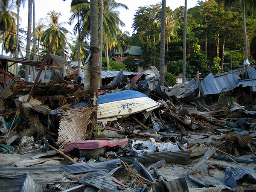
[{"label": "wide field of tsunami-like wreckage and debris covering the ground", "polygon": [[256,84],[243,73],[170,88],[120,71],[98,109],[58,74],[13,79],[0,93],[0,190],[255,191]]}]

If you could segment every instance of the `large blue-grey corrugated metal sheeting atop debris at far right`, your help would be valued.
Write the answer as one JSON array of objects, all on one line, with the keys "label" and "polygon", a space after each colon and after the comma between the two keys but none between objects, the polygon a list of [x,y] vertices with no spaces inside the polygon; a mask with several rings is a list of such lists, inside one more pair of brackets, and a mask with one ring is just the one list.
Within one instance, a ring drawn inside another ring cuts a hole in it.
[{"label": "large blue-grey corrugated metal sheeting atop debris at far right", "polygon": [[[233,90],[239,85],[240,76],[245,73],[245,67],[241,69],[232,70],[226,73],[213,76],[210,73],[200,84],[200,90],[205,95],[221,93],[221,90],[227,88]],[[256,70],[253,66],[248,67],[248,76],[250,79],[256,79]]]}]

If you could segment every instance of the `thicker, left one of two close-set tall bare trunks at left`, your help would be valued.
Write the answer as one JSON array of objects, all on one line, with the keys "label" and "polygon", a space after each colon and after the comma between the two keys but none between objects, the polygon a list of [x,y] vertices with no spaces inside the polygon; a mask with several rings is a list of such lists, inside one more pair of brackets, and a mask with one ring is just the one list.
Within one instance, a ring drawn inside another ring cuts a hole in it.
[{"label": "thicker, left one of two close-set tall bare trunks at left", "polygon": [[[32,26],[32,0],[29,0],[29,15],[28,15],[28,32],[26,44],[26,59],[30,58],[31,44],[31,26]],[[29,81],[29,65],[25,65],[25,81]]]}]

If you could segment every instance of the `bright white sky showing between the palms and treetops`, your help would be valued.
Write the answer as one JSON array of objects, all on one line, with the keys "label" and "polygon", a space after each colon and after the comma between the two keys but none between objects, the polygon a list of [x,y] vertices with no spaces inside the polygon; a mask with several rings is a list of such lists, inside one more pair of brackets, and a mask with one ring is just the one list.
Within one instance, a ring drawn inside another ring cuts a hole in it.
[{"label": "bright white sky showing between the palms and treetops", "polygon": [[[35,20],[36,23],[40,18],[47,17],[49,11],[55,10],[55,12],[61,12],[60,22],[68,21],[70,18],[70,4],[72,0],[35,0]],[[117,3],[123,3],[129,7],[129,10],[119,9],[120,19],[125,23],[125,27],[122,27],[122,31],[128,31],[132,35],[132,23],[136,10],[140,6],[150,6],[156,3],[161,3],[161,0],[116,0]],[[188,0],[188,9],[197,5],[198,0]],[[28,0],[26,0],[25,8],[20,9],[20,17],[22,18],[20,28],[27,30],[27,20],[28,20]],[[180,6],[185,6],[185,0],[166,0],[166,6],[170,7],[172,10]],[[73,31],[73,26],[64,25],[70,32]]]}]

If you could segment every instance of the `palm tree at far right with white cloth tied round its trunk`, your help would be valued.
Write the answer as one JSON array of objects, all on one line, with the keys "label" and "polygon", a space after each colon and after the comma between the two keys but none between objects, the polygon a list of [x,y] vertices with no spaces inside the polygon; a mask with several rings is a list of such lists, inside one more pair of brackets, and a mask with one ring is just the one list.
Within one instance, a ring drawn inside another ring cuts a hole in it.
[{"label": "palm tree at far right with white cloth tied round its trunk", "polygon": [[[225,7],[231,7],[232,5],[236,6],[241,4],[243,8],[243,28],[244,28],[244,64],[245,64],[245,79],[248,78],[248,46],[247,46],[247,32],[246,32],[246,5],[255,9],[255,0],[218,0],[218,3],[224,2]],[[250,63],[249,63],[250,64]]]}]

